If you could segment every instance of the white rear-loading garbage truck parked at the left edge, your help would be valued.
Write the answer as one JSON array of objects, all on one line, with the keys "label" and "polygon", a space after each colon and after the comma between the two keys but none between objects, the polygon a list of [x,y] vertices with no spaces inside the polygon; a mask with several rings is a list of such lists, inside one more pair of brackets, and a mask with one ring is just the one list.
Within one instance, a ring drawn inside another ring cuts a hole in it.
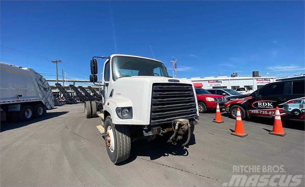
[{"label": "white rear-loading garbage truck parked at the left edge", "polygon": [[54,108],[52,90],[41,74],[0,62],[1,121],[24,121],[43,116]]}]

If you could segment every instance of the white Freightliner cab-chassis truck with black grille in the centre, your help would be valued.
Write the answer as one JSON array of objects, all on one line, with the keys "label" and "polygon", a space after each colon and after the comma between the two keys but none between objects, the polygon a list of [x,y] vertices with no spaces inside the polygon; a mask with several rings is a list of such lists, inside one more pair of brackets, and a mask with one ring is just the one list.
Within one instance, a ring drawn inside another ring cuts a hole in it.
[{"label": "white Freightliner cab-chassis truck with black grille in the centre", "polygon": [[[95,58],[106,58],[99,80]],[[90,81],[101,86],[103,101],[85,102],[85,115],[101,117],[97,128],[114,164],[129,157],[130,142],[139,138],[160,135],[188,144],[199,117],[191,81],[169,77],[160,61],[133,55],[93,57],[90,66]]]}]

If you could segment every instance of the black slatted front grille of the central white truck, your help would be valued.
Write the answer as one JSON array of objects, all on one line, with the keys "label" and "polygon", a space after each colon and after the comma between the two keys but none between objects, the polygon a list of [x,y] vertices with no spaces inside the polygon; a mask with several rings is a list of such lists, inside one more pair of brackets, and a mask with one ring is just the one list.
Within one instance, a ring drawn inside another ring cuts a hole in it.
[{"label": "black slatted front grille of the central white truck", "polygon": [[150,125],[171,123],[174,119],[197,117],[192,85],[180,83],[154,83]]}]

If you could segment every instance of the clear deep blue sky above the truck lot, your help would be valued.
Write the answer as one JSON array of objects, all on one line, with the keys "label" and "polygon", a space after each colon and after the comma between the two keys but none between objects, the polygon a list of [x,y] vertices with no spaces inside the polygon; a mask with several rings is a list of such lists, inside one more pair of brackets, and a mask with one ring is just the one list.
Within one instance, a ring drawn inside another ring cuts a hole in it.
[{"label": "clear deep blue sky above the truck lot", "polygon": [[304,1],[1,1],[1,61],[47,78],[49,58],[88,79],[92,56],[152,57],[149,46],[170,75],[174,55],[180,78],[292,76],[305,71],[304,40]]}]

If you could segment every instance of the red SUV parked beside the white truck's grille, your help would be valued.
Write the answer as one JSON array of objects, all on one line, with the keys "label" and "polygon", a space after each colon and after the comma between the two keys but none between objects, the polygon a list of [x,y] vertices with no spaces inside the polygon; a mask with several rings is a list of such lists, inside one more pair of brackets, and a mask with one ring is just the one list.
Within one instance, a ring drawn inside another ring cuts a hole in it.
[{"label": "red SUV parked beside the white truck's grille", "polygon": [[217,103],[219,108],[224,108],[226,99],[223,95],[211,94],[203,88],[195,88],[199,113],[205,113],[207,109],[216,109]]}]

